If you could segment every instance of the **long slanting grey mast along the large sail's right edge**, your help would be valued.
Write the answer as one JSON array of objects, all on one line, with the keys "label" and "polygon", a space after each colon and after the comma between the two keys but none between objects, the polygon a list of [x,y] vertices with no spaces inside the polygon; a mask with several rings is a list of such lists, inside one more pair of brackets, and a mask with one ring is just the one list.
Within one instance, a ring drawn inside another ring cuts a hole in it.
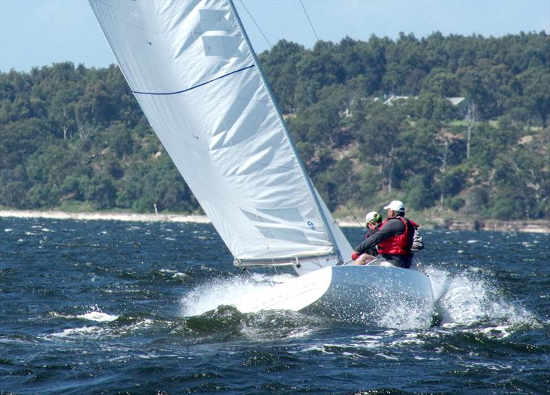
[{"label": "long slanting grey mast along the large sail's right edge", "polygon": [[329,221],[327,221],[327,216],[325,216],[325,213],[323,210],[321,210],[321,205],[316,193],[316,190],[314,188],[313,183],[311,182],[311,179],[309,178],[309,175],[307,174],[307,170],[305,168],[305,164],[302,161],[302,158],[300,155],[298,155],[298,150],[296,150],[296,146],[294,145],[294,140],[292,139],[292,136],[289,133],[289,130],[287,128],[287,123],[285,122],[285,119],[283,118],[283,114],[281,113],[281,110],[279,109],[277,100],[275,98],[275,95],[271,89],[270,84],[267,82],[267,78],[265,78],[265,74],[263,74],[263,69],[260,67],[260,63],[258,61],[258,58],[256,56],[256,52],[254,51],[254,47],[252,47],[252,43],[250,43],[250,39],[248,38],[248,34],[244,28],[243,22],[241,21],[241,17],[239,16],[239,12],[236,11],[235,5],[233,3],[233,0],[228,0],[229,5],[231,7],[231,10],[235,16],[235,19],[237,23],[239,24],[239,27],[241,29],[241,32],[243,34],[243,37],[245,38],[246,44],[248,45],[248,48],[250,49],[250,54],[252,54],[252,58],[254,59],[254,64],[256,65],[256,68],[259,71],[259,74],[261,76],[261,79],[263,80],[263,84],[265,85],[265,88],[267,89],[267,93],[270,95],[270,98],[273,102],[274,108],[277,112],[277,116],[279,118],[279,122],[281,122],[281,126],[283,126],[283,130],[285,131],[285,134],[287,135],[287,139],[289,140],[289,144],[294,152],[294,155],[296,156],[296,160],[298,161],[298,164],[300,168],[302,169],[302,172],[304,174],[307,186],[309,188],[309,192],[311,192],[311,195],[314,198],[314,201],[317,206],[317,210],[319,212],[320,217],[322,218],[323,225],[325,226],[325,229],[327,229],[327,235],[329,236],[329,239],[333,245],[333,249],[338,255],[338,260],[340,262],[344,262],[342,258],[342,253],[340,253],[340,249],[338,248],[338,244],[336,242],[336,238],[334,237],[331,227],[329,225]]}]

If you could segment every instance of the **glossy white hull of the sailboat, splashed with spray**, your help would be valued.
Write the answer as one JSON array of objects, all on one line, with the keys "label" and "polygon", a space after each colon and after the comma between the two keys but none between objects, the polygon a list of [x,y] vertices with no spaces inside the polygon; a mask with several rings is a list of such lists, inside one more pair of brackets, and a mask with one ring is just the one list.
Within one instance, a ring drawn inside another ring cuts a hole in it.
[{"label": "glossy white hull of the sailboat, splashed with spray", "polygon": [[377,323],[399,307],[419,321],[433,313],[430,279],[412,269],[380,266],[333,266],[261,291],[239,302],[243,313],[292,310],[351,322]]}]

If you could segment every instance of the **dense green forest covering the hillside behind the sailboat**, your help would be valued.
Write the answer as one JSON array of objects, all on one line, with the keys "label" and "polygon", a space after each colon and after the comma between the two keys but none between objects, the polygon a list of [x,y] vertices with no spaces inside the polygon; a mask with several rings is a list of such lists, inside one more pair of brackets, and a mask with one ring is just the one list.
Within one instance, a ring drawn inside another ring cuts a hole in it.
[{"label": "dense green forest covering the hillside behind the sailboat", "polygon": [[[550,218],[550,37],[280,41],[259,55],[333,211]],[[199,212],[118,67],[0,73],[0,205]]]}]

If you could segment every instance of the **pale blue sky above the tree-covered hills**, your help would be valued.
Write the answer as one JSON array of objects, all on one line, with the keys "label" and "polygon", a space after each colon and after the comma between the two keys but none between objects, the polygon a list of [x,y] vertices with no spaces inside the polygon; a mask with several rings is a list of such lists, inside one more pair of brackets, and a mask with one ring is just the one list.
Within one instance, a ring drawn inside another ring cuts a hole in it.
[{"label": "pale blue sky above the tree-covered hills", "polygon": [[[313,29],[299,0],[234,3],[258,53],[283,38],[311,48],[316,35],[338,43],[373,34],[396,39],[399,32],[417,38],[438,31],[486,37],[550,33],[550,0],[303,0]],[[0,0],[0,71],[65,61],[86,67],[115,63],[86,0]]]}]

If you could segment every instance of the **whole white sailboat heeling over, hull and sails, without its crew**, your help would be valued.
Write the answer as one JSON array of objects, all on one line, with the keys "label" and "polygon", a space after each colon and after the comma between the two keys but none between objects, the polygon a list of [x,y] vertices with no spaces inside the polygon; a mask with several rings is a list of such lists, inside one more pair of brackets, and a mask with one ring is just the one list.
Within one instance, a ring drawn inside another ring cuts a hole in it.
[{"label": "whole white sailboat heeling over, hull and sails, without its crew", "polygon": [[89,0],[153,130],[239,267],[297,273],[243,313],[351,321],[396,301],[429,321],[419,271],[346,264],[351,246],[300,161],[231,0]]}]

